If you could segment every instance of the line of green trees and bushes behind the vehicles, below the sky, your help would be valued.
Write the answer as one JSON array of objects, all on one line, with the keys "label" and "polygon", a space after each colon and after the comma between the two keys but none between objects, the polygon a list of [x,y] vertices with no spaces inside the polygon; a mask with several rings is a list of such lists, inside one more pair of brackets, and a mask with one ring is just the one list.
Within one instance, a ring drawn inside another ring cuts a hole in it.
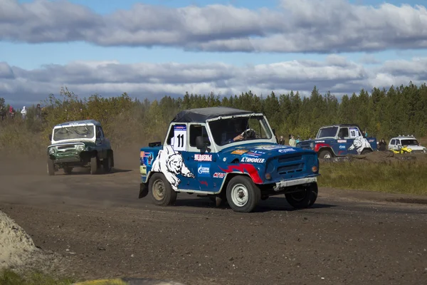
[{"label": "line of green trees and bushes behind the vehicles, below the sky", "polygon": [[[0,102],[4,105],[4,100]],[[28,108],[25,122],[28,128],[48,134],[57,123],[91,118],[100,120],[106,135],[110,134],[117,140],[117,146],[163,140],[169,122],[180,110],[214,106],[264,113],[276,135],[285,137],[292,134],[300,135],[302,139],[312,138],[323,125],[339,123],[355,123],[376,138],[388,139],[398,134],[423,137],[427,134],[426,83],[421,86],[411,82],[407,86],[391,86],[389,89],[373,88],[370,93],[362,89],[359,93],[343,95],[341,100],[330,92],[321,94],[316,86],[307,97],[293,91],[287,94],[272,92],[265,96],[255,95],[249,90],[231,96],[186,93],[172,98],[165,95],[152,101],[133,99],[127,93],[110,98],[97,94],[78,98],[63,88],[59,96],[49,95],[41,105],[41,123],[31,118],[35,107]]]}]

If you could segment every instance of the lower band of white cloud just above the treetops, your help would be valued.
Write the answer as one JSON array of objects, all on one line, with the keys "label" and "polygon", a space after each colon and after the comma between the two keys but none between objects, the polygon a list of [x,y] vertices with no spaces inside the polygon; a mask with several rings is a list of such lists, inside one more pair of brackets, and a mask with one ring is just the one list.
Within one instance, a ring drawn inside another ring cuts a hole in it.
[{"label": "lower band of white cloud just above the treetops", "polygon": [[310,94],[317,86],[322,93],[335,95],[358,93],[373,87],[389,88],[413,81],[426,83],[427,58],[411,61],[386,61],[367,68],[342,56],[328,56],[325,61],[285,61],[255,66],[232,66],[226,63],[134,63],[117,61],[74,61],[67,65],[46,65],[25,70],[0,63],[0,94],[11,103],[36,103],[60,87],[80,96],[94,93],[132,97],[161,98],[184,93],[222,95],[252,90],[258,95],[288,93],[299,90]]}]

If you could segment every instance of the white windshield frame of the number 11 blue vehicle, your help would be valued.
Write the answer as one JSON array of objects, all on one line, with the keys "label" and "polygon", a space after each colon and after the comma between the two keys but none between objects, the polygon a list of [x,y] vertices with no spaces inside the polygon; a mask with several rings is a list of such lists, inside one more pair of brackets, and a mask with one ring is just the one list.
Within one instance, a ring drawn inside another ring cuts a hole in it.
[{"label": "white windshield frame of the number 11 blue vehicle", "polygon": [[[233,118],[248,118],[248,119],[250,119],[251,117],[262,117],[262,120],[265,120],[265,127],[268,129],[268,131],[271,134],[270,139],[260,138],[260,139],[255,139],[255,140],[239,140],[237,142],[230,142],[230,143],[227,143],[225,145],[218,145],[216,143],[216,141],[214,140],[214,135],[213,135],[212,130],[211,130],[211,122],[214,122],[216,120],[229,120],[229,119],[233,119]],[[228,148],[228,147],[236,147],[238,145],[249,145],[249,144],[258,143],[258,142],[259,143],[262,143],[262,142],[278,143],[277,140],[275,140],[275,134],[273,132],[273,129],[271,128],[271,125],[268,122],[267,117],[265,117],[265,115],[263,113],[252,113],[252,114],[244,114],[244,115],[229,115],[229,116],[212,118],[212,119],[206,120],[206,129],[208,130],[208,133],[209,133],[209,140],[211,141],[211,145],[215,145],[215,148],[218,152],[220,152],[221,150]]]}]

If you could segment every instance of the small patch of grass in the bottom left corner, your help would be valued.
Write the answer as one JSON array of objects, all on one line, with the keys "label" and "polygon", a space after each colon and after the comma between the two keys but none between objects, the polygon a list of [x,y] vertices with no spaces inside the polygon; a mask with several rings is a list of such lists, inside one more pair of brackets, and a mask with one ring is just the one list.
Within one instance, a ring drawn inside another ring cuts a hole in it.
[{"label": "small patch of grass in the bottom left corner", "polygon": [[10,269],[0,271],[1,285],[68,285],[73,282],[72,279],[58,278],[33,271],[23,274],[18,274]]}]

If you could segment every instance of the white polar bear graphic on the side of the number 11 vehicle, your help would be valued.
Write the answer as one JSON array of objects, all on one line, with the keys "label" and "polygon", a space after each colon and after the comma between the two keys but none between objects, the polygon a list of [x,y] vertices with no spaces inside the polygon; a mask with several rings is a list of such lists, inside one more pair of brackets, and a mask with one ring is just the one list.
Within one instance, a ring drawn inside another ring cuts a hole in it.
[{"label": "white polar bear graphic on the side of the number 11 vehicle", "polygon": [[174,151],[170,145],[164,145],[163,150],[159,150],[153,162],[152,171],[162,172],[175,191],[178,190],[181,182],[176,175],[194,178],[194,174],[184,164],[181,153]]}]

